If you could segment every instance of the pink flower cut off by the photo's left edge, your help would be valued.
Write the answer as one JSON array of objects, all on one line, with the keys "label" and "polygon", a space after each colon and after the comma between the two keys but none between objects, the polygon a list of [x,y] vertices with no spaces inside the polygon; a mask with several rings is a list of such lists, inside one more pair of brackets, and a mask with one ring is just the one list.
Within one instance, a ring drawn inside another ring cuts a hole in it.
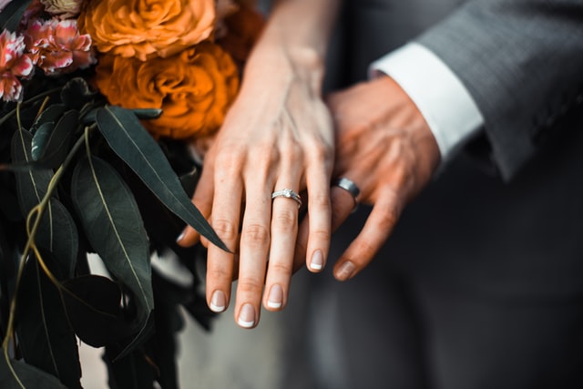
[{"label": "pink flower cut off by the photo's left edge", "polygon": [[25,54],[24,36],[3,31],[0,34],[0,97],[5,101],[22,99],[22,84],[18,77],[32,74],[35,64]]}]

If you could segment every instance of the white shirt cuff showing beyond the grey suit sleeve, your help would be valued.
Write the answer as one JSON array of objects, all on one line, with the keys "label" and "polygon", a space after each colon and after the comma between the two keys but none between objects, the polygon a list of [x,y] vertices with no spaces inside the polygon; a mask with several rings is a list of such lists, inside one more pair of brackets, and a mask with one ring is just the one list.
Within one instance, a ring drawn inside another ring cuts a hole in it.
[{"label": "white shirt cuff showing beyond the grey suit sleeve", "polygon": [[455,154],[484,124],[476,102],[452,70],[433,52],[417,43],[373,62],[370,76],[392,77],[411,97],[431,128],[442,161]]}]

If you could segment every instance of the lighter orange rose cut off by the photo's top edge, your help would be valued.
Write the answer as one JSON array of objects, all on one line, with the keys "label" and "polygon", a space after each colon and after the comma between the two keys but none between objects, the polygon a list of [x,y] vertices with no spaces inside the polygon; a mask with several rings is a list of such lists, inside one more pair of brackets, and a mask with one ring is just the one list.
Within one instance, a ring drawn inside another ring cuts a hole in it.
[{"label": "lighter orange rose cut off by the photo's top edge", "polygon": [[215,0],[93,0],[78,25],[98,51],[145,61],[208,38],[214,21]]}]

